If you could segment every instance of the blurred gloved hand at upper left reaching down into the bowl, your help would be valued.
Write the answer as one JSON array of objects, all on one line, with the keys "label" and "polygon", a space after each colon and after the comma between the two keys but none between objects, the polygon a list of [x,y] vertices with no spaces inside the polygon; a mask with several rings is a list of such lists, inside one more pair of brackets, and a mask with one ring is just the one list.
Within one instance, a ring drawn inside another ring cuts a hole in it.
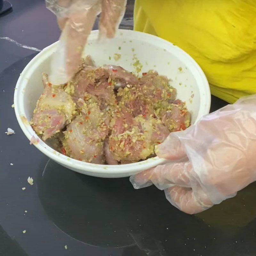
[{"label": "blurred gloved hand at upper left reaching down into the bowl", "polygon": [[115,36],[125,12],[126,0],[45,0],[57,16],[62,30],[52,56],[49,82],[64,84],[80,65],[81,56],[96,16],[100,16],[100,37]]}]

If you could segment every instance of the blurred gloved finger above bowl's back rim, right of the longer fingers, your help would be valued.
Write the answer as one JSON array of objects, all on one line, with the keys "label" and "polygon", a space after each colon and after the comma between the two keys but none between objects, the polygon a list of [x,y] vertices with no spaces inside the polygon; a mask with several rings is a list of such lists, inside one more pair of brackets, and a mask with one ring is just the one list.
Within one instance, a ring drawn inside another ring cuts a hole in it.
[{"label": "blurred gloved finger above bowl's back rim, right of the longer fingers", "polygon": [[124,17],[126,0],[102,0],[100,14],[100,37],[112,38]]}]

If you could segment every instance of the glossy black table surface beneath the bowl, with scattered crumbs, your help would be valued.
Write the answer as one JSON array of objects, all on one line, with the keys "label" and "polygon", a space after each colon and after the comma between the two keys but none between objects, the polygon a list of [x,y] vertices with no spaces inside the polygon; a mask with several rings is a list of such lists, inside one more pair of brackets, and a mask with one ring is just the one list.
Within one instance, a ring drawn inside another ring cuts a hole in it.
[{"label": "glossy black table surface beneath the bowl, with scattered crumbs", "polygon": [[[37,49],[58,40],[43,0],[11,3],[13,11],[0,17],[0,38]],[[191,216],[153,186],[134,190],[128,178],[82,175],[30,146],[11,105],[17,79],[36,54],[0,39],[0,255],[256,255],[255,184]],[[212,97],[211,111],[224,105]],[[7,136],[7,127],[15,134]]]}]

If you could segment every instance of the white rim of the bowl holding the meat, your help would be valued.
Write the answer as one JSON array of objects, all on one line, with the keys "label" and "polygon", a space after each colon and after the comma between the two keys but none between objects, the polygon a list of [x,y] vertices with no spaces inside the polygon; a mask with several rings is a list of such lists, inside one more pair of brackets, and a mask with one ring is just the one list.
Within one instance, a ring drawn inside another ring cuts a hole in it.
[{"label": "white rim of the bowl holding the meat", "polygon": [[[93,30],[88,38],[88,41],[91,39],[94,39],[98,36],[99,31]],[[119,33],[119,34],[118,34]],[[117,35],[118,34],[118,35]],[[203,72],[203,70],[200,68],[200,66],[196,63],[196,61],[186,52],[184,52],[182,49],[180,49],[178,46],[172,44],[169,41],[166,41],[158,36],[150,35],[144,32],[134,31],[134,30],[125,30],[125,29],[118,29],[116,36],[127,36],[131,39],[140,39],[144,42],[152,42],[158,41],[159,44],[165,45],[165,48],[171,49],[172,47],[175,47],[175,51],[179,53],[180,56],[185,58],[189,64],[193,65],[194,68],[196,68],[196,71],[198,72],[198,75],[201,79],[202,88],[199,91],[200,94],[202,94],[201,99],[204,99],[204,104],[199,108],[198,116],[196,118],[195,123],[201,118],[203,115],[206,115],[210,111],[211,106],[211,93],[210,93],[210,87],[208,84],[208,81],[206,79],[206,76]],[[21,72],[21,75],[17,81],[17,84],[15,86],[14,90],[14,109],[15,109],[15,115],[17,117],[18,123],[20,125],[21,130],[24,132],[28,140],[31,139],[32,136],[35,136],[36,138],[39,138],[34,130],[32,129],[31,125],[24,124],[24,120],[22,120],[22,116],[25,116],[25,109],[24,109],[24,97],[20,97],[20,95],[24,95],[22,93],[21,88],[25,88],[27,84],[27,80],[24,78],[25,74],[32,73],[31,70],[33,69],[33,66],[36,62],[42,62],[42,60],[49,57],[49,52],[53,52],[55,46],[58,44],[58,41],[45,47],[41,52],[39,52],[32,60],[29,61],[29,63],[26,65],[26,67]],[[46,54],[48,52],[48,55]],[[52,54],[52,53],[51,53]],[[28,76],[30,77],[30,76]],[[197,79],[198,81],[198,79]],[[203,97],[204,96],[204,97]],[[204,105],[204,107],[203,107]],[[159,164],[164,164],[166,162],[165,159],[159,158],[159,157],[153,157],[149,158],[147,160],[143,160],[137,163],[132,164],[121,164],[121,165],[106,165],[106,164],[92,164],[92,163],[86,163],[82,162],[73,158],[70,158],[68,156],[64,156],[51,147],[49,147],[46,143],[44,143],[43,140],[39,138],[39,143],[34,144],[36,148],[38,148],[42,153],[44,153],[46,156],[51,158],[52,160],[58,162],[59,164],[62,164],[64,166],[70,167],[72,170],[73,168],[76,169],[76,171],[81,173],[86,173],[88,175],[95,176],[96,173],[98,174],[113,174],[113,175],[124,175],[126,172],[129,172],[129,175],[131,173],[137,173],[142,170],[150,169],[152,167],[155,167]]]}]

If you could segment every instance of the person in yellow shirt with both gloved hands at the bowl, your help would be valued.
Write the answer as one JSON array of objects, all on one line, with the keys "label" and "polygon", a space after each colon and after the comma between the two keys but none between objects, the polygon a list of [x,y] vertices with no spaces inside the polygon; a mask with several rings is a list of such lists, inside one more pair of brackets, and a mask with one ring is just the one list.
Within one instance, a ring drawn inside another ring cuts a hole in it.
[{"label": "person in yellow shirt with both gloved hands at the bowl", "polygon": [[[68,38],[65,56],[72,61],[52,70],[61,70],[65,80],[77,68],[82,53],[76,49],[84,47],[96,14],[102,10],[100,35],[113,37],[126,0],[46,3],[63,29],[60,40]],[[212,94],[236,102],[171,133],[156,154],[172,162],[130,178],[134,188],[155,184],[181,211],[202,212],[256,180],[256,1],[136,0],[134,29],[188,52],[206,74]],[[63,52],[58,60],[65,60]]]}]

